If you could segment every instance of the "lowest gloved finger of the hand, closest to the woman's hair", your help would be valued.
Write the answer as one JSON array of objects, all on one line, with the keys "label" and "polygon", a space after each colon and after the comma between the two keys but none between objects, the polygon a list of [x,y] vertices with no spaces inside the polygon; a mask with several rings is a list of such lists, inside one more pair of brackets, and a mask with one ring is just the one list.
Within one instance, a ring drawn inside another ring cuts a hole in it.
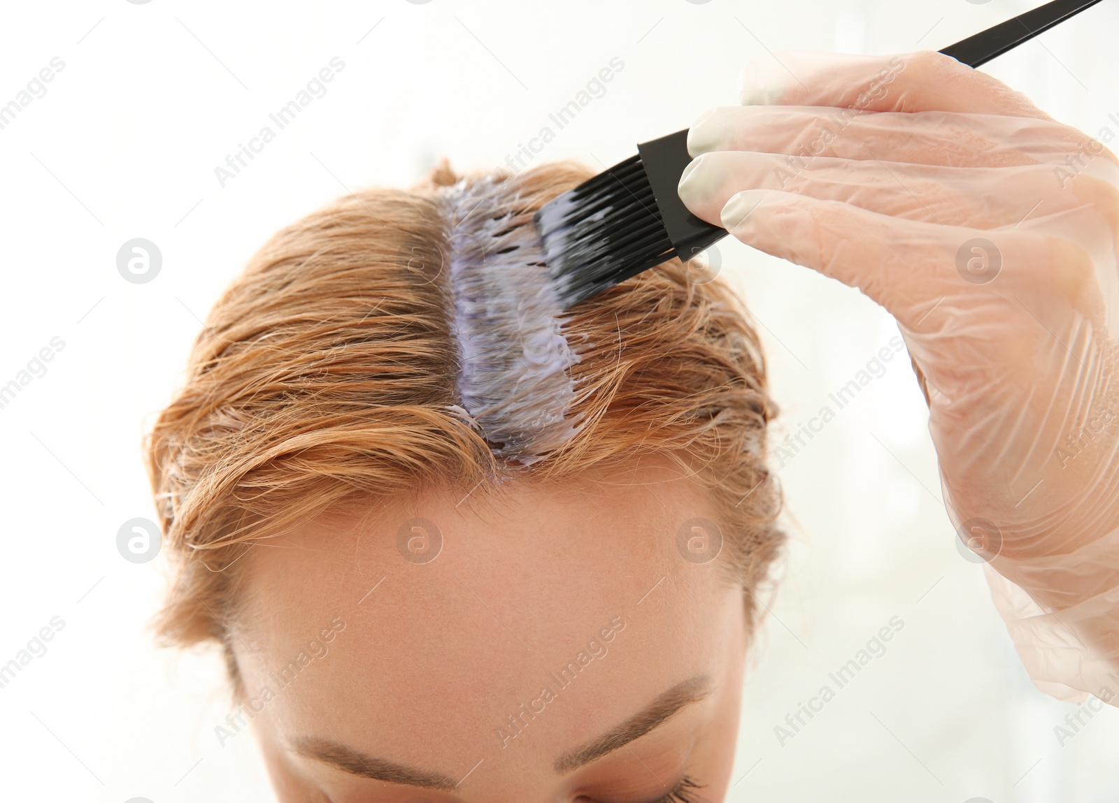
[{"label": "lowest gloved finger of the hand, closest to the woman's hair", "polygon": [[905,220],[770,189],[732,196],[722,225],[746,245],[861,290],[910,330],[938,304],[970,310],[951,321],[960,338],[969,325],[986,331],[991,310],[1012,303],[1008,293],[1037,285],[1034,264],[1049,252],[1049,238],[1032,233]]}]

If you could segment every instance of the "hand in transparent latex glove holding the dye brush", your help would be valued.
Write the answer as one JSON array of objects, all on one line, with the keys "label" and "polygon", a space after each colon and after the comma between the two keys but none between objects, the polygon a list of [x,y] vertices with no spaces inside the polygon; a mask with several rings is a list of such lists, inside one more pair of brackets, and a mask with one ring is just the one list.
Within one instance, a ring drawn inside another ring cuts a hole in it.
[{"label": "hand in transparent latex glove holding the dye brush", "polygon": [[894,315],[1027,671],[1119,705],[1119,119],[1097,141],[933,51],[778,53],[741,101],[680,198]]}]

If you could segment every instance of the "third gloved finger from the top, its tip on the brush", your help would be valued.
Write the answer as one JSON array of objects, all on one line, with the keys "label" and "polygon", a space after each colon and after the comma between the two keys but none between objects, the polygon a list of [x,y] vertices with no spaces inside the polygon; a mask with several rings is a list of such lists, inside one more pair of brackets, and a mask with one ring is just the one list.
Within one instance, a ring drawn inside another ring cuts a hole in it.
[{"label": "third gloved finger from the top, its tip on the brush", "polygon": [[693,161],[677,192],[694,215],[722,225],[722,209],[743,188],[772,189],[841,201],[890,215],[990,229],[1015,227],[1088,204],[1119,207],[1110,181],[1084,176],[1063,186],[1053,168],[944,168],[904,162],[817,157],[810,161],[775,153],[714,151]]}]

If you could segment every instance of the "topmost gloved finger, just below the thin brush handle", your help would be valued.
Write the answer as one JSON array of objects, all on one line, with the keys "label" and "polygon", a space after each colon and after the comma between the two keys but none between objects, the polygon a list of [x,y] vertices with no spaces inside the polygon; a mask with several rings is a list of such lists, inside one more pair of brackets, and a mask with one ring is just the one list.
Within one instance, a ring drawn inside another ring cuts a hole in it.
[{"label": "topmost gloved finger, just below the thin brush handle", "polygon": [[934,50],[862,56],[778,50],[742,72],[743,104],[1051,117],[1021,92]]}]

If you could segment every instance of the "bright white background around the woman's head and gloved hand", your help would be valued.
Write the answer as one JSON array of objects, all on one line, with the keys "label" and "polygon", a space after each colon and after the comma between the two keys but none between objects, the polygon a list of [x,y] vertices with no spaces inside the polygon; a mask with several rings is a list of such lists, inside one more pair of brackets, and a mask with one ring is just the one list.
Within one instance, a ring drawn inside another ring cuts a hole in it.
[{"label": "bright white background around the woman's head and gloved hand", "polygon": [[[767,48],[937,49],[1036,2],[405,0],[6,3],[0,104],[65,68],[0,130],[0,384],[51,338],[48,372],[0,409],[0,663],[51,616],[0,689],[0,797],[270,801],[252,737],[206,653],[152,645],[162,559],[117,528],[153,518],[140,440],[219,291],[280,226],[346,191],[404,186],[442,154],[489,169],[612,57],[623,69],[534,163],[602,169],[638,141],[736,103]],[[1119,3],[985,69],[1098,135],[1119,116]],[[345,69],[225,188],[214,169],[331,57]],[[553,125],[553,127],[555,127]],[[162,271],[130,284],[128,239]],[[762,324],[783,415],[807,421],[896,332],[858,293],[730,240],[723,271]],[[792,544],[746,681],[732,801],[1115,801],[1119,714],[1061,746],[1074,710],[1036,691],[961,558],[904,355],[780,467]],[[783,747],[773,728],[892,616],[904,629]]]}]

